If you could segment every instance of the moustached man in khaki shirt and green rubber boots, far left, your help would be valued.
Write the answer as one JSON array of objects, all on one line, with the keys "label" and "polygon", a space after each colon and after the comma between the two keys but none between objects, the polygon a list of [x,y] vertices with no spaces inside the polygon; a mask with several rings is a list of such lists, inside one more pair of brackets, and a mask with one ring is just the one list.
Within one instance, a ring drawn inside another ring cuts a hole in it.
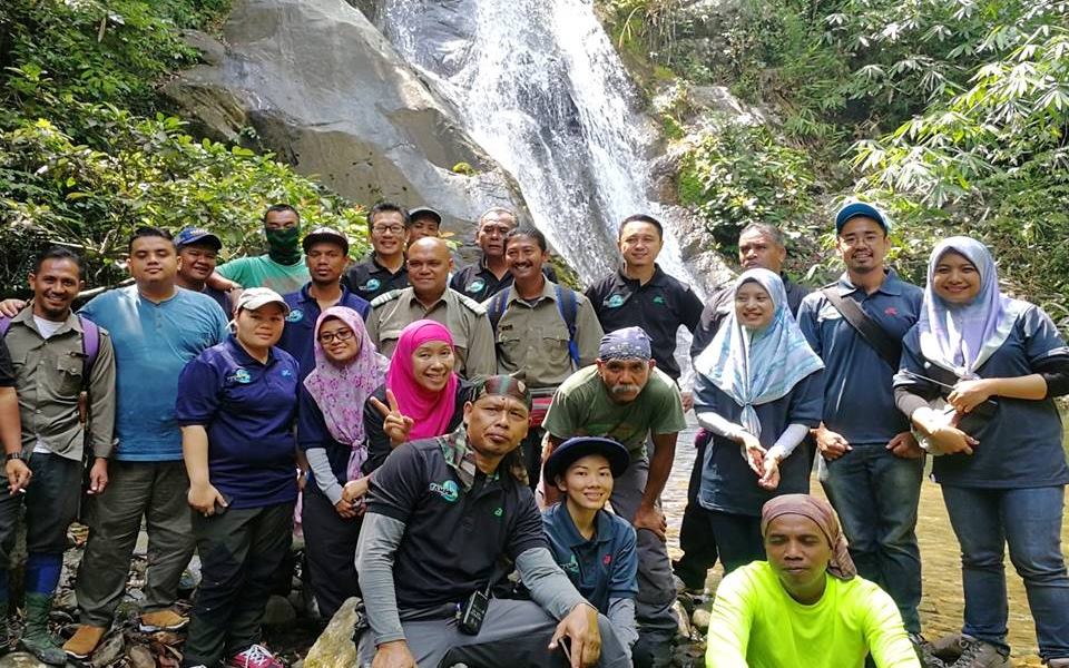
[{"label": "moustached man in khaki shirt and green rubber boots, far left", "polygon": [[[52,640],[48,615],[59,583],[67,527],[78,513],[84,455],[90,455],[89,493],[108,484],[115,424],[111,337],[70,305],[82,287],[81,261],[52,247],[29,276],[33,301],[0,325],[16,365],[22,442],[7,450],[8,494],[0,494],[0,619],[8,613],[8,563],[24,505],[26,629],[19,647],[45,664],[67,655]],[[21,492],[21,493],[20,493]],[[0,625],[7,646],[7,623]]]}]

